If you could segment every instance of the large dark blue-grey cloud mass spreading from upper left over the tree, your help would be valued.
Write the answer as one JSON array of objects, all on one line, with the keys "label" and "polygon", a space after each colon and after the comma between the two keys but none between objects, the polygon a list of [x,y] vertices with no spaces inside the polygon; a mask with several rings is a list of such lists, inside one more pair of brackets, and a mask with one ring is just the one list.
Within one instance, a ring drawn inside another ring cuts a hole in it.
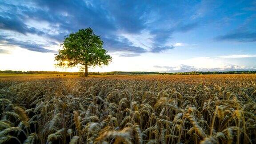
[{"label": "large dark blue-grey cloud mass spreading from upper left over the tree", "polygon": [[[76,32],[81,28],[91,27],[104,40],[104,48],[110,52],[127,52],[126,56],[138,56],[148,52],[144,48],[134,46],[127,39],[119,39],[120,32],[140,34],[143,30],[153,36],[152,51],[163,52],[173,47],[165,47],[166,41],[173,32],[187,32],[198,26],[197,23],[186,23],[182,14],[184,11],[178,6],[192,7],[193,4],[148,0],[27,0],[21,3],[2,2],[0,11],[0,29],[20,32],[24,35],[31,33],[52,39],[61,43],[64,36]],[[168,17],[167,17],[168,16]],[[171,21],[176,25],[165,27]],[[33,28],[26,20],[46,21],[49,29]],[[183,22],[184,21],[184,22]],[[163,24],[163,25],[162,25]],[[178,26],[177,26],[178,25]],[[58,33],[51,34],[55,29]],[[47,52],[47,49],[36,41],[8,40],[8,43],[19,45],[37,52]],[[46,45],[56,44],[56,42]],[[42,48],[42,50],[39,50]],[[123,54],[121,56],[124,56]]]}]

